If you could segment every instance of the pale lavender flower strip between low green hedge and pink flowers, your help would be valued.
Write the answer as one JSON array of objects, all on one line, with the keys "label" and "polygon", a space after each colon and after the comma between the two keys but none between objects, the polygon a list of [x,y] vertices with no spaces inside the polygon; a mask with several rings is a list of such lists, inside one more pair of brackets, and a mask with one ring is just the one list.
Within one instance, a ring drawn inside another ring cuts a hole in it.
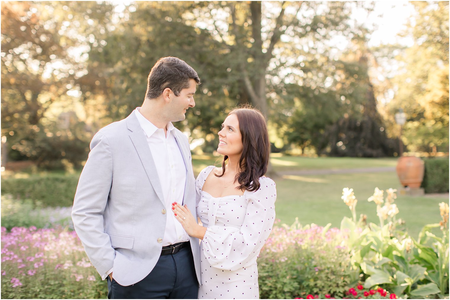
[{"label": "pale lavender flower strip between low green hedge and pink flowers", "polygon": [[13,227],[50,228],[67,227],[73,230],[72,207],[45,207],[30,199],[14,200],[11,195],[1,196],[1,225],[7,230]]}]

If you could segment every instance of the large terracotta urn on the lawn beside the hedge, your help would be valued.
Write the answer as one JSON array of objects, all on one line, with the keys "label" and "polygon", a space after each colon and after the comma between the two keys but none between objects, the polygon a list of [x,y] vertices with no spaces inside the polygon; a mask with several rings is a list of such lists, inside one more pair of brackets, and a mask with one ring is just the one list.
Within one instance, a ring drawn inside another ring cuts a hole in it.
[{"label": "large terracotta urn on the lawn beside the hedge", "polygon": [[425,172],[423,160],[416,156],[401,156],[397,163],[397,175],[401,185],[419,189]]}]

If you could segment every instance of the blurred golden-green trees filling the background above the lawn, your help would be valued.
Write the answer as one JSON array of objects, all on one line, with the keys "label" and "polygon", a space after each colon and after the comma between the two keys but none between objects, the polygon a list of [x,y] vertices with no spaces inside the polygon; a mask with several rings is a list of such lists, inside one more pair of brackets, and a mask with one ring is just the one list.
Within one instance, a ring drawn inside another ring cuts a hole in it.
[{"label": "blurred golden-green trees filling the background above the lawn", "polygon": [[448,2],[414,4],[417,22],[405,32],[414,47],[390,45],[398,57],[385,51],[405,72],[389,78],[396,95],[381,108],[386,91],[369,70],[383,51],[368,47],[371,31],[351,18],[373,3],[1,5],[2,145],[12,160],[78,166],[99,128],[140,106],[163,56],[180,57],[202,79],[177,126],[204,138],[204,152],[215,149],[227,108],[246,102],[267,116],[275,151],[392,155],[398,107],[408,114],[410,150],[448,150]]}]

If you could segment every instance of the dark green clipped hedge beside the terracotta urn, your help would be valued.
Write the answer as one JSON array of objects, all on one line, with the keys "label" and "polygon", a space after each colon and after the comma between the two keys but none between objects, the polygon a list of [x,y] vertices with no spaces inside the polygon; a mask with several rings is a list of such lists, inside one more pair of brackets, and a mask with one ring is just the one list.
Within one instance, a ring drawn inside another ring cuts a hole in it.
[{"label": "dark green clipped hedge beside the terracotta urn", "polygon": [[422,186],[425,193],[448,193],[449,158],[424,159],[425,174]]}]

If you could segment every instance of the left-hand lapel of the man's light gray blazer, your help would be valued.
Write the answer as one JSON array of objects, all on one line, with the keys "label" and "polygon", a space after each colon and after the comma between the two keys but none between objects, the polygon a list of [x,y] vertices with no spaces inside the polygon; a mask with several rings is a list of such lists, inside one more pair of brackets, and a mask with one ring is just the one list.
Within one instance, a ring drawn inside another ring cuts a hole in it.
[{"label": "left-hand lapel of the man's light gray blazer", "polygon": [[130,139],[135,146],[142,165],[144,166],[148,180],[152,184],[153,190],[155,190],[159,200],[161,200],[162,204],[165,206],[166,204],[162,194],[161,183],[159,182],[158,172],[155,162],[153,161],[152,152],[150,151],[150,147],[148,147],[144,132],[139,125],[139,121],[136,118],[134,111],[126,118],[126,121],[128,129],[132,131],[130,133]]}]

